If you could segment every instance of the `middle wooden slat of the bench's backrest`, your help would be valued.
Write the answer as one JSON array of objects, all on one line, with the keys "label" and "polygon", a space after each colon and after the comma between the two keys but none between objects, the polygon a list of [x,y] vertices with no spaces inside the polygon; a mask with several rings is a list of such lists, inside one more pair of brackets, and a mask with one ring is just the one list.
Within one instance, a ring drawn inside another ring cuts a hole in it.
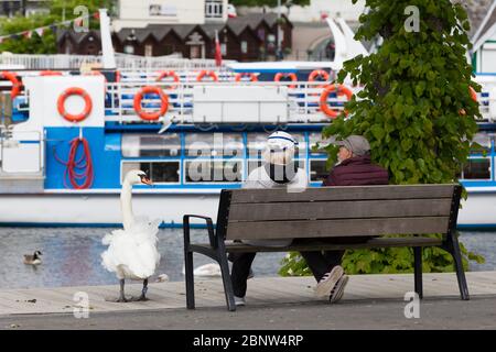
[{"label": "middle wooden slat of the bench's backrest", "polygon": [[265,220],[440,217],[450,215],[451,201],[451,198],[442,198],[236,204],[230,206],[229,223]]}]

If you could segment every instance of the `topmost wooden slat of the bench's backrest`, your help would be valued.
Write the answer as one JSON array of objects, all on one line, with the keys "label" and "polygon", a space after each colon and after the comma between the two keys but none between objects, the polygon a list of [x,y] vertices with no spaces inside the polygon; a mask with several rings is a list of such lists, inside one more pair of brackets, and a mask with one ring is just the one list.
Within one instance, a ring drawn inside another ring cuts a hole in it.
[{"label": "topmost wooden slat of the bench's backrest", "polygon": [[280,202],[280,201],[330,201],[371,199],[436,199],[452,198],[455,185],[384,185],[306,188],[304,191],[289,193],[279,189],[234,189],[234,204]]}]

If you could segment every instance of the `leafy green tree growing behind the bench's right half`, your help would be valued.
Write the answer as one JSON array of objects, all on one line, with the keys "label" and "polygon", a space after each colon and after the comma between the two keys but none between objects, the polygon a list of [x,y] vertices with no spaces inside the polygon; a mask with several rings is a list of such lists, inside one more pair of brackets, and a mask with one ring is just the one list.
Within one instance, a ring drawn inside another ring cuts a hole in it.
[{"label": "leafy green tree growing behind the bench's right half", "polygon": [[[384,43],[376,54],[344,63],[338,81],[348,76],[364,88],[346,105],[351,118],[337,118],[323,135],[366,136],[373,161],[389,170],[391,184],[456,182],[481,117],[468,94],[468,87],[481,87],[472,80],[465,56],[471,46],[465,10],[450,0],[367,0],[366,6],[370,11],[360,16],[356,38],[381,35]],[[419,10],[419,31],[410,31],[411,6]],[[337,147],[327,151],[332,165]],[[465,267],[468,260],[484,260],[463,245],[462,252]],[[301,262],[292,253],[281,274],[308,273]],[[348,273],[412,272],[412,263],[410,249],[347,251],[343,260]],[[452,271],[452,257],[441,249],[425,249],[423,270]]]}]

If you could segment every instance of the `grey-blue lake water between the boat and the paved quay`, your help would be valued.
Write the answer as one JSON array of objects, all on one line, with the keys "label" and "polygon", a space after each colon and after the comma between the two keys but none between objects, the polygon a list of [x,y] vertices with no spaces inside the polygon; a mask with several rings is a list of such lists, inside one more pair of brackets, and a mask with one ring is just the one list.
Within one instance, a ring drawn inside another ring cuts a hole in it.
[{"label": "grey-blue lake water between the boat and the paved quay", "polygon": [[[116,284],[112,273],[100,264],[106,246],[101,238],[109,228],[0,228],[0,289]],[[192,241],[205,242],[206,230],[192,230]],[[496,270],[496,232],[462,232],[462,242],[470,251],[486,258],[485,264],[471,263],[471,271]],[[43,253],[37,267],[24,265],[23,254]],[[183,280],[182,229],[159,231],[162,254],[157,275],[168,274],[171,280]],[[284,253],[258,253],[254,262],[256,276],[277,275]],[[194,255],[195,267],[212,263],[204,255]]]}]

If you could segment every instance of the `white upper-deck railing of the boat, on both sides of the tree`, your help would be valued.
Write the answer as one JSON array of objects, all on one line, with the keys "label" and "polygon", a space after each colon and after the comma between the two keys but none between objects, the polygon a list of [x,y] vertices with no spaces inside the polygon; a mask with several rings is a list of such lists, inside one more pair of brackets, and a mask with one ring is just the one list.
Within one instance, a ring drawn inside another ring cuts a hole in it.
[{"label": "white upper-deck railing of the boat, on both sides of the tree", "polygon": [[[142,121],[134,111],[133,99],[138,91],[144,85],[152,85],[161,87],[163,92],[169,99],[169,109],[163,120],[173,120],[175,123],[195,123],[194,120],[194,89],[195,87],[284,87],[287,89],[287,111],[288,123],[321,123],[328,122],[331,118],[321,109],[321,97],[323,92],[322,81],[241,81],[235,82],[233,78],[226,74],[226,80],[230,81],[196,81],[194,76],[182,78],[181,82],[172,81],[157,81],[155,76],[148,76],[145,81],[132,80],[122,81],[119,84],[107,84],[106,95],[106,119],[107,121],[114,121],[119,123],[139,122]],[[352,87],[354,94],[360,90],[359,87]],[[212,103],[218,103],[222,112],[225,111],[225,106],[231,98],[222,98],[212,100]],[[244,98],[239,97],[239,101],[242,102]],[[330,95],[327,98],[327,105],[336,112],[341,112],[344,109],[346,97]],[[496,96],[489,91],[483,90],[478,94],[477,101],[479,102],[479,109],[483,117],[483,121],[494,122],[496,121]],[[157,111],[161,107],[161,101],[155,95],[147,95],[143,97],[141,105],[145,111]],[[229,116],[220,116],[219,119],[223,122],[229,122]]]}]

